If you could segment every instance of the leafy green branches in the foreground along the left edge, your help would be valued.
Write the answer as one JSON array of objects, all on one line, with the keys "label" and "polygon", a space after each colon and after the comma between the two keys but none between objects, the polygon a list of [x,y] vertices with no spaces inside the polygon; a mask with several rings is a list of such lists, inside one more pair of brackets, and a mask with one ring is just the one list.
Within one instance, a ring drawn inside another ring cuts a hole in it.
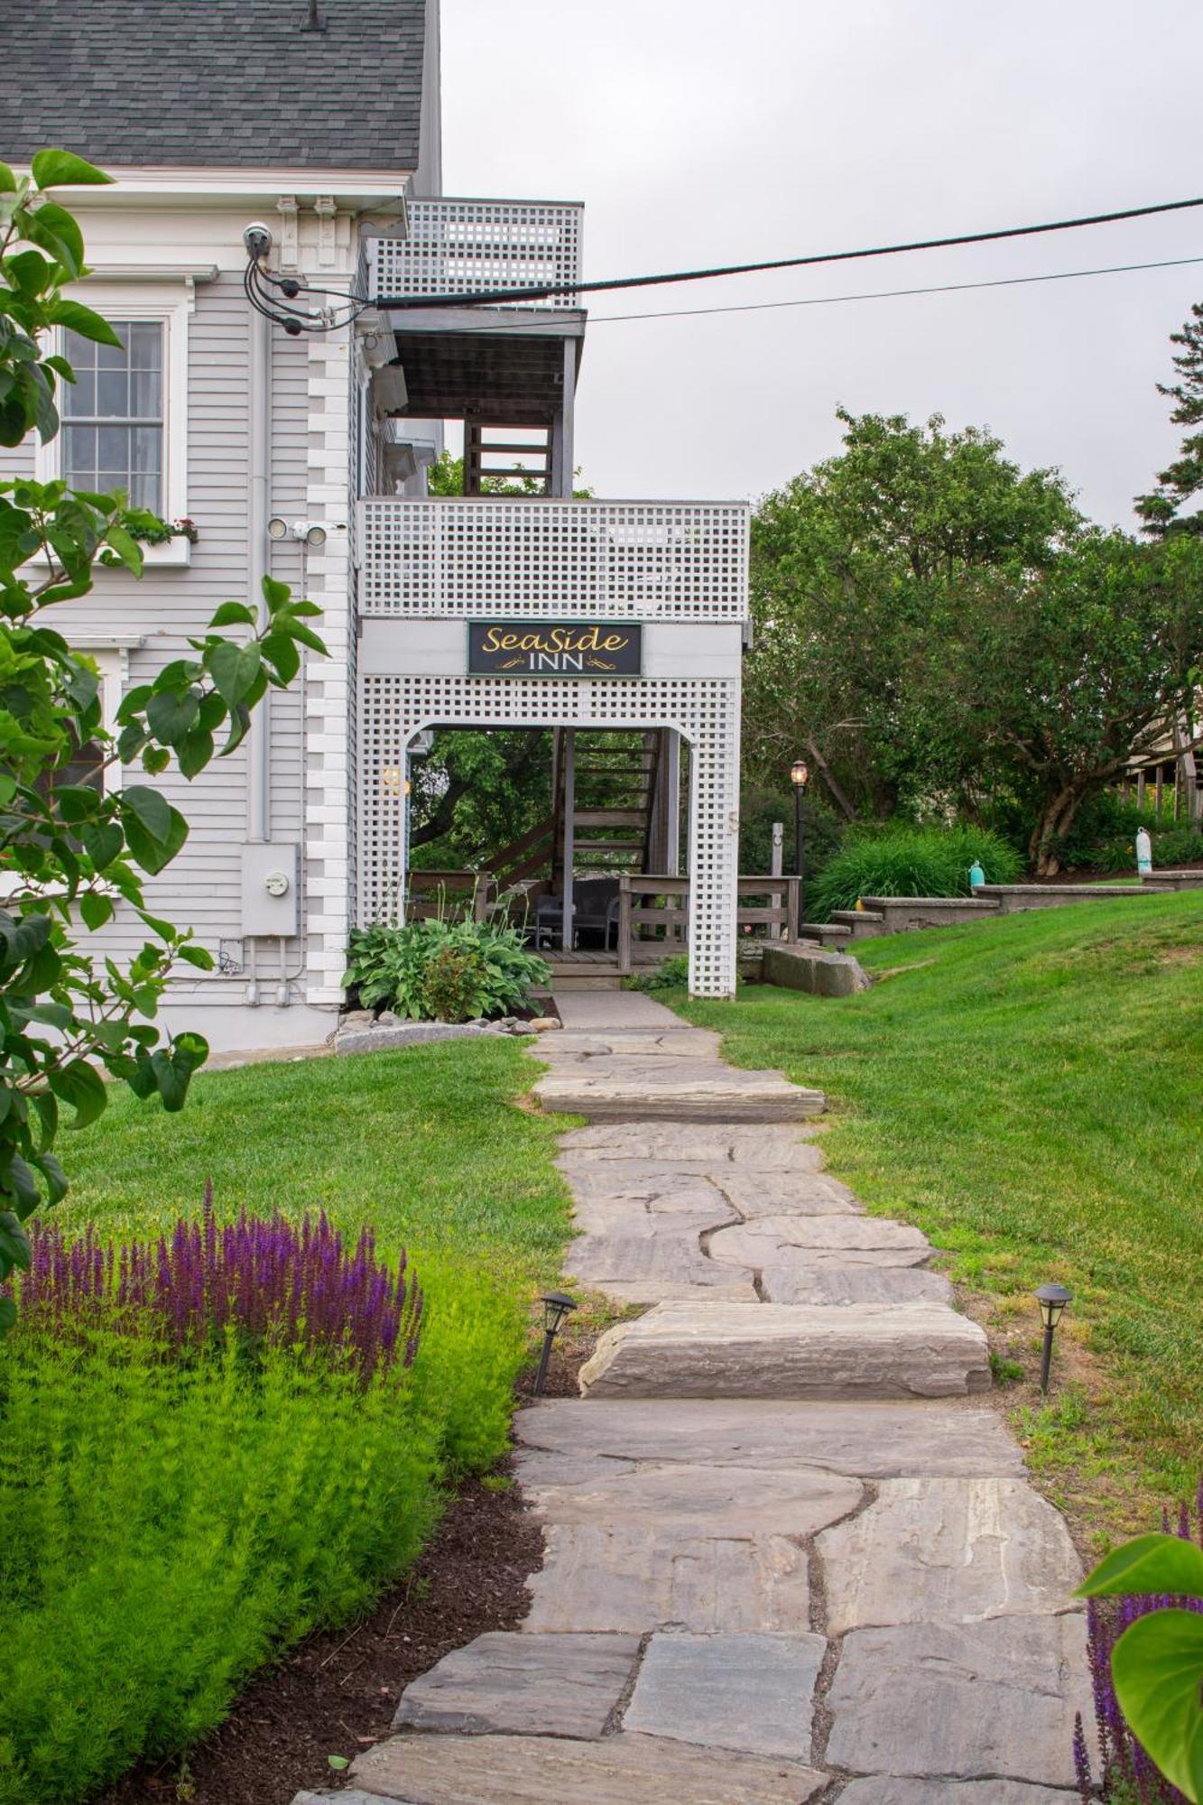
[{"label": "leafy green branches in the foreground along the left edge", "polygon": [[[45,350],[54,327],[101,345],[114,329],[63,289],[87,274],[83,236],[52,199],[63,184],[107,182],[63,150],[33,159],[33,179],[0,164],[0,444],[58,431],[56,392],[72,383],[65,357]],[[139,1097],[179,1110],[208,1049],[199,1034],[163,1038],[154,1025],[177,960],[200,969],[211,955],[191,930],[152,915],[143,874],[157,874],[188,838],[184,816],[143,782],[101,791],[72,782],[83,747],[101,769],[141,762],[154,776],[175,760],[195,778],[217,753],[244,738],[269,684],[285,686],[300,650],[323,652],[307,625],[320,614],[293,601],[284,583],[264,583],[262,621],[228,601],[210,630],[190,641],[154,682],[132,690],[119,735],[105,731],[92,659],[72,653],[45,625],[56,603],[85,596],[92,567],[141,574],[134,532],[163,527],[126,507],[123,495],[72,491],[63,482],[0,482],[0,848],[7,888],[0,897],[0,1280],[29,1260],[22,1224],[40,1202],[58,1202],[67,1179],[52,1152],[60,1106],[83,1128],[105,1108],[105,1074]],[[220,628],[237,626],[238,637]],[[81,931],[96,933],[123,901],[146,930],[126,969],[94,960]],[[13,1303],[0,1298],[0,1328]]]}]

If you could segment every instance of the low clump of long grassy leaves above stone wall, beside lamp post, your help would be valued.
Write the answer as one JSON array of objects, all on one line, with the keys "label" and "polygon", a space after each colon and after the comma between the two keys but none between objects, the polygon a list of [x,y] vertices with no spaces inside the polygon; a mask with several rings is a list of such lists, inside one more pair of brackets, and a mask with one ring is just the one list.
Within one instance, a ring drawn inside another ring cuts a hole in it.
[{"label": "low clump of long grassy leaves above stone wall, beside lamp post", "polygon": [[968,872],[977,859],[986,883],[1010,884],[1022,872],[1015,848],[984,827],[851,828],[813,884],[806,913],[829,921],[860,897],[957,897],[970,893]]}]

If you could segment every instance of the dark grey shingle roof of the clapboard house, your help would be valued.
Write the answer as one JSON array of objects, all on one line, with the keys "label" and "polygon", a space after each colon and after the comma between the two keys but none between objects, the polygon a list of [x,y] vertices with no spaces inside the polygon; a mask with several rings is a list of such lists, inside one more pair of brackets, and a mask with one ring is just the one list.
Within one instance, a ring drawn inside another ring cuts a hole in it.
[{"label": "dark grey shingle roof of the clapboard house", "polygon": [[[0,159],[412,170],[426,0],[0,0]],[[20,16],[18,16],[20,14]]]}]

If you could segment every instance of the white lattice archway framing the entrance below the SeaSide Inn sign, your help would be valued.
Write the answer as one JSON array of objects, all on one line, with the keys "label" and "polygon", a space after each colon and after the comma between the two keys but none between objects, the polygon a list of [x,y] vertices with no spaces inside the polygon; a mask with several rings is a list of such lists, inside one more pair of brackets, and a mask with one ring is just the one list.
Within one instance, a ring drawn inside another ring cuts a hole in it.
[{"label": "white lattice archway framing the entrance below the SeaSide Inn sign", "polygon": [[739,682],[504,677],[359,679],[361,924],[405,897],[406,747],[423,727],[676,727],[690,742],[690,989],[735,989]]}]

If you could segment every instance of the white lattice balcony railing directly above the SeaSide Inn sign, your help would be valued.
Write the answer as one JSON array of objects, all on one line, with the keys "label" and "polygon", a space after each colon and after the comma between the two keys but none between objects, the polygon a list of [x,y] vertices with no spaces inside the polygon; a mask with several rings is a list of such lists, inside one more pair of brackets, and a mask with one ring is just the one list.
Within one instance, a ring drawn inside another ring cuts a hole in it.
[{"label": "white lattice balcony railing directly above the SeaSide Inn sign", "polygon": [[742,502],[359,502],[359,612],[748,616]]}]

